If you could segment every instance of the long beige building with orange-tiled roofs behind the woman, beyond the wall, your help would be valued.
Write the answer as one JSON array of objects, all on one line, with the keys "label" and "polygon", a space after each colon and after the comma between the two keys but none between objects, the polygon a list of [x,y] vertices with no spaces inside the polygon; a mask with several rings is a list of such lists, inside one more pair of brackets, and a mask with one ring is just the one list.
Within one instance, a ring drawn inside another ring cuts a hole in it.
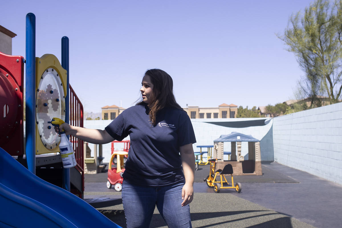
[{"label": "long beige building with orange-tiled roofs behind the woman, beyond the wall", "polygon": [[[126,108],[116,105],[102,107],[102,119],[114,120]],[[236,118],[237,105],[225,103],[216,108],[200,108],[198,106],[188,106],[183,108],[191,119],[212,119],[212,118]]]}]

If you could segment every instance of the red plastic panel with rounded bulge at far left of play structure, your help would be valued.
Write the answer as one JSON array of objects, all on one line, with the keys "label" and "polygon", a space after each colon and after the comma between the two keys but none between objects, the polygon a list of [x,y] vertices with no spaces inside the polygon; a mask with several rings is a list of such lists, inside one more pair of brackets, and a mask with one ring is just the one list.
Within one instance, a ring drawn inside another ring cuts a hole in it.
[{"label": "red plastic panel with rounded bulge at far left of play structure", "polygon": [[24,154],[23,59],[0,52],[0,147],[12,156]]}]

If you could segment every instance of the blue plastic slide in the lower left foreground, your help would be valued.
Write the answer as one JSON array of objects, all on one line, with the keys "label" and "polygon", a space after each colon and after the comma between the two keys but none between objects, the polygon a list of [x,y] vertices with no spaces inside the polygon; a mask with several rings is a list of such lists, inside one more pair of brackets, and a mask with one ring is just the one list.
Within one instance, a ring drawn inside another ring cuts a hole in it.
[{"label": "blue plastic slide in the lower left foreground", "polygon": [[121,228],[87,202],[28,171],[0,148],[0,227]]}]

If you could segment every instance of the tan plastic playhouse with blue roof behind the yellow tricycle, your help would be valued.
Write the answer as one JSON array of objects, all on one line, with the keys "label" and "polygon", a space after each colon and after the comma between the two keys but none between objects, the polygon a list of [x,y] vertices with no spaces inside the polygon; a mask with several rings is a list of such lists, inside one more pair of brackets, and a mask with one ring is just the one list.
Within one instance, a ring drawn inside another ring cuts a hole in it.
[{"label": "tan plastic playhouse with blue roof behind the yellow tricycle", "polygon": [[[229,161],[224,161],[224,142],[231,142],[231,156]],[[241,142],[248,142],[248,160],[241,155]],[[236,150],[237,147],[237,150]],[[260,140],[251,135],[232,132],[229,135],[221,135],[214,140],[213,158],[218,159],[216,168],[223,170],[225,165],[231,164],[234,175],[262,175]]]}]

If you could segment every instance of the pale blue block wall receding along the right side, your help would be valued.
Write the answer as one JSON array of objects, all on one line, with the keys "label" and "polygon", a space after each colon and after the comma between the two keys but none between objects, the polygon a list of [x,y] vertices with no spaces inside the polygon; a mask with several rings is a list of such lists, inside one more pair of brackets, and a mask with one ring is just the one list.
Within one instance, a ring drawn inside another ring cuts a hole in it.
[{"label": "pale blue block wall receding along the right side", "polygon": [[342,184],[342,103],[273,119],[274,160]]}]

